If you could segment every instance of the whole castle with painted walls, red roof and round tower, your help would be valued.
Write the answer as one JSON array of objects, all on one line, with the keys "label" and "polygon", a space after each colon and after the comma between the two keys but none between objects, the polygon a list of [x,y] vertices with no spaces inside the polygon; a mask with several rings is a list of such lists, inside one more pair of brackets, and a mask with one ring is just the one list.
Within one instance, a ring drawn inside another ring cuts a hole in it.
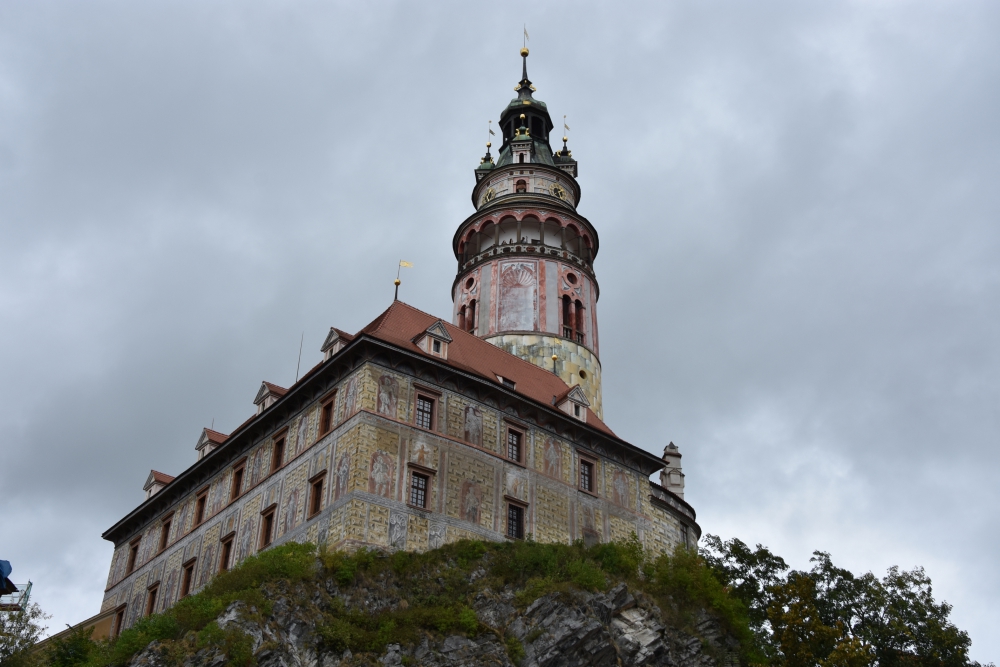
[{"label": "whole castle with painted walls, red roof and round tower", "polygon": [[655,456],[602,419],[597,233],[522,55],[504,143],[455,235],[452,322],[395,301],[356,334],[331,328],[301,380],[262,383],[239,428],[203,430],[191,467],[151,472],[146,500],[104,533],[114,633],[288,541],[697,543],[677,448]]}]

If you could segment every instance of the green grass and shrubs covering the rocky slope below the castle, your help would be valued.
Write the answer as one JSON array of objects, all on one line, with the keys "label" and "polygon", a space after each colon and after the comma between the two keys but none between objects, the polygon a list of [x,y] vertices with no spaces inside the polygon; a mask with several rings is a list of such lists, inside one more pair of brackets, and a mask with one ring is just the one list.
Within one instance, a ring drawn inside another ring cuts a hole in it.
[{"label": "green grass and shrubs covering the rocky slope below the castle", "polygon": [[[255,663],[250,639],[232,626],[220,628],[215,619],[234,602],[243,603],[245,617],[266,618],[278,595],[314,614],[321,649],[380,653],[392,643],[417,644],[425,634],[474,637],[487,631],[471,608],[476,595],[487,588],[509,588],[515,592],[515,604],[524,608],[549,593],[602,591],[618,581],[653,597],[682,629],[692,630],[699,614],[707,612],[741,645],[752,644],[741,604],[695,552],[678,550],[648,559],[634,535],[625,542],[591,548],[580,542],[465,540],[425,553],[399,551],[388,556],[285,544],[216,576],[196,595],[143,618],[114,641],[81,645],[77,637],[72,651],[57,643],[47,664],[123,666],[150,642],[159,641],[168,664],[181,664],[184,656],[213,649],[225,654],[229,665],[249,667]],[[368,609],[364,599],[371,592],[395,603]],[[522,643],[514,637],[499,639],[517,664],[524,657]]]}]

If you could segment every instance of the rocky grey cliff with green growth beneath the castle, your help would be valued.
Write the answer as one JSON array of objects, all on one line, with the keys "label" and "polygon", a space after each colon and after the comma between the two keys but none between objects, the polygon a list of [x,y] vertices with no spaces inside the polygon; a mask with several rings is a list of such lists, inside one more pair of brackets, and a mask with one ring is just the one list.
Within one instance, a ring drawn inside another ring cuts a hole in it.
[{"label": "rocky grey cliff with green growth beneath the castle", "polygon": [[[360,561],[321,554],[311,576],[275,578],[253,595],[229,594],[236,599],[214,621],[154,640],[128,664],[739,663],[739,642],[710,605],[689,599],[682,609],[664,597],[656,568],[647,565],[644,575],[637,563],[623,562],[627,548],[605,545],[611,557],[603,561],[601,552],[579,545],[554,549],[471,543],[438,554],[363,554]],[[621,576],[629,571],[636,576]],[[654,592],[643,590],[649,587]],[[176,613],[183,623],[184,609]]]}]

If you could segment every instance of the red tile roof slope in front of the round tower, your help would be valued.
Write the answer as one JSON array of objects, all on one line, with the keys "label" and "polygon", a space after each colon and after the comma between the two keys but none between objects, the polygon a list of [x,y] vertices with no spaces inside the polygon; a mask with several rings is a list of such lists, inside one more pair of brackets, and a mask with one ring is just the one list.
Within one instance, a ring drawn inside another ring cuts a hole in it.
[{"label": "red tile roof slope in front of the round tower", "polygon": [[[453,339],[448,344],[447,360],[427,354],[413,342],[432,324],[439,321],[444,324]],[[368,335],[411,352],[422,354],[429,359],[486,378],[498,385],[500,384],[500,381],[497,380],[498,375],[513,380],[515,382],[514,393],[549,407],[554,407],[552,405],[553,397],[564,395],[570,389],[555,373],[520,357],[515,357],[467,331],[462,331],[458,327],[417,310],[402,301],[393,302],[384,313],[358,332],[358,336],[361,335]],[[614,435],[614,432],[590,408],[587,409],[587,424],[609,435]]]}]

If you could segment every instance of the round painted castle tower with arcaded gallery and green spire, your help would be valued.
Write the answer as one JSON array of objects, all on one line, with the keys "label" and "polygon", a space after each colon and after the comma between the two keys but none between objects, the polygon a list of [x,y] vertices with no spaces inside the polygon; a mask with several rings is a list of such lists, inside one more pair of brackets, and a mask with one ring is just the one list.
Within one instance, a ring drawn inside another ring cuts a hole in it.
[{"label": "round painted castle tower with arcaded gallery and green spire", "polygon": [[503,144],[496,162],[486,144],[472,189],[476,212],[452,241],[453,322],[579,385],[603,419],[597,231],[576,212],[576,160],[566,137],[552,150],[552,119],[532,96],[528,49],[521,57],[517,97],[500,115]]}]

